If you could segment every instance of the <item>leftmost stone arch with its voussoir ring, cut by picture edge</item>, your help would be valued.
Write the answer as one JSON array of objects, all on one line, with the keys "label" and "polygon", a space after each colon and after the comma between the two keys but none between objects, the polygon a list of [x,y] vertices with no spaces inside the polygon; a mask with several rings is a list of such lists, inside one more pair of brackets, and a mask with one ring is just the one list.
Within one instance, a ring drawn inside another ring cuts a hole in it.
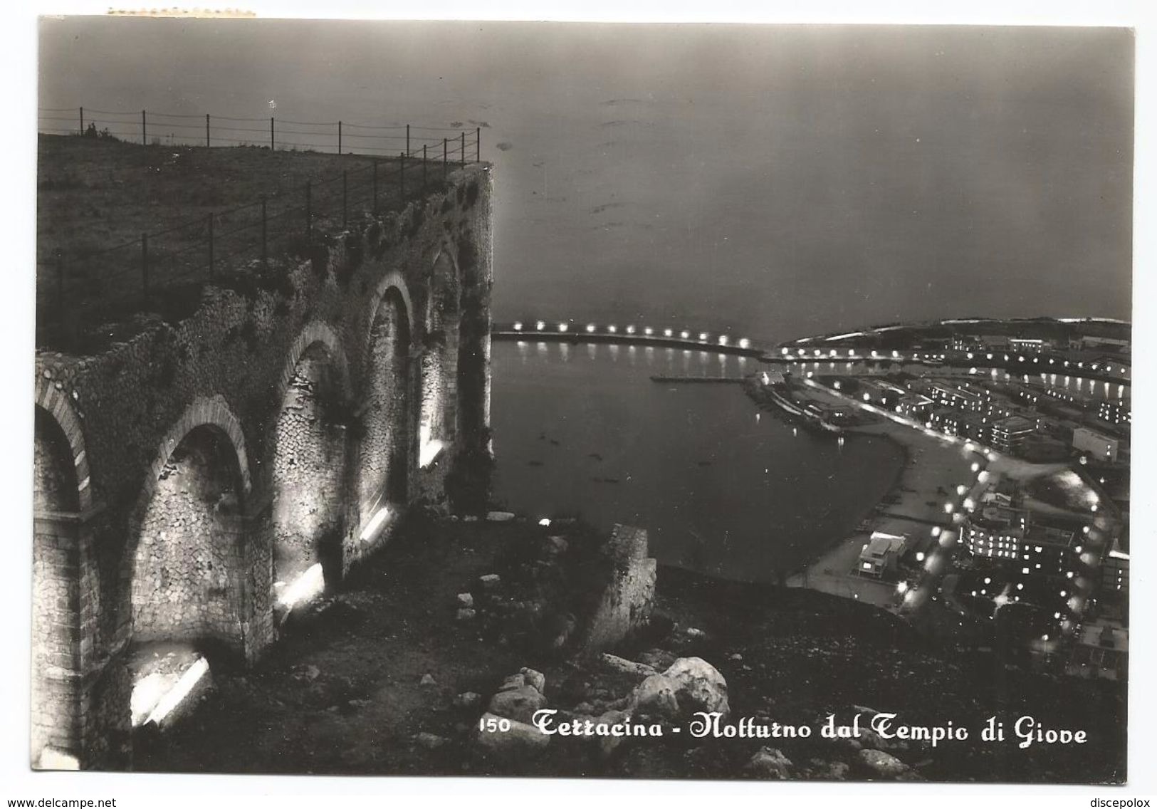
[{"label": "leftmost stone arch with its voussoir ring, cut by picture edge", "polygon": [[52,760],[64,760],[60,755],[84,757],[82,678],[93,639],[81,616],[95,606],[81,513],[82,503],[91,506],[83,434],[64,394],[47,391],[37,391],[34,407],[31,760],[37,767],[57,766]]}]

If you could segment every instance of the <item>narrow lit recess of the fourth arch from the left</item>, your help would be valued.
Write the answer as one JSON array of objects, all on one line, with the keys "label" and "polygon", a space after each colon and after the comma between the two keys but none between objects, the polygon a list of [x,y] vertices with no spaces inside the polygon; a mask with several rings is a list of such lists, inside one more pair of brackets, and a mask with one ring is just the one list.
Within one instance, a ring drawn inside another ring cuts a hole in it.
[{"label": "narrow lit recess of the fourth arch from the left", "polygon": [[371,543],[390,513],[407,500],[410,468],[410,321],[405,300],[389,287],[369,336],[361,441],[361,540]]}]

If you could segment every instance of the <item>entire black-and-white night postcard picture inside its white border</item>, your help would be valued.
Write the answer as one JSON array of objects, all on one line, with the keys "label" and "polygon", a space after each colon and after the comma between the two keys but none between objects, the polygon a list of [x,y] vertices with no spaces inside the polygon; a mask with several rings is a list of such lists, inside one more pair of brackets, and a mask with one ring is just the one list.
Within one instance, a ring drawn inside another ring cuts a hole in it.
[{"label": "entire black-and-white night postcard picture inside its white border", "polygon": [[1126,782],[1134,45],[42,17],[31,768]]}]

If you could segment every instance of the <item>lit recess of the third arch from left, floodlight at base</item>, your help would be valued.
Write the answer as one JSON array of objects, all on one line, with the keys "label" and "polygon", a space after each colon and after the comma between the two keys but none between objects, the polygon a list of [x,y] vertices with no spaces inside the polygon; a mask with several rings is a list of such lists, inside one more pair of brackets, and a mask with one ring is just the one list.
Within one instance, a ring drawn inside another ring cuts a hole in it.
[{"label": "lit recess of the third arch from left, floodlight at base", "polygon": [[273,579],[292,608],[341,575],[346,425],[339,367],[323,343],[297,360],[273,455]]}]

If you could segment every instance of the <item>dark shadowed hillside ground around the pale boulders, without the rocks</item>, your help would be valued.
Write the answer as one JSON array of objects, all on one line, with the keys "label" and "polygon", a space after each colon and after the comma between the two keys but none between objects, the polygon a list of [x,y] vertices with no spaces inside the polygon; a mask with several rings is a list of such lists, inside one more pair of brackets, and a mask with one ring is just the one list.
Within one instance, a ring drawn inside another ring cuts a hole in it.
[{"label": "dark shadowed hillside ground around the pale boulders, without the rocks", "polygon": [[[598,704],[622,687],[594,660],[552,659],[493,623],[455,619],[457,593],[477,590],[486,573],[516,578],[509,549],[546,532],[524,522],[412,522],[358,583],[290,627],[256,669],[215,671],[216,691],[191,716],[138,743],[137,768],[743,778],[744,764],[769,744],[799,778],[830,777],[840,762],[850,765],[849,779],[871,777],[847,743],[818,737],[697,742],[684,734],[629,740],[610,758],[590,742],[555,737],[538,759],[487,760],[474,727],[503,676],[519,667],[545,672],[552,707]],[[951,719],[975,737],[989,715],[1011,718],[1010,726],[1027,713],[1051,727],[1083,727],[1090,742],[1022,751],[1015,742],[974,738],[890,752],[928,780],[1125,778],[1123,690],[1034,674],[990,653],[937,648],[890,616],[803,590],[662,568],[657,609],[653,635],[619,652],[638,659],[659,647],[703,657],[727,678],[736,718],[818,730],[828,713],[850,719],[853,706],[865,706],[911,725]],[[433,685],[421,684],[426,674]],[[455,696],[466,691],[480,693],[482,705],[456,707]]]}]

